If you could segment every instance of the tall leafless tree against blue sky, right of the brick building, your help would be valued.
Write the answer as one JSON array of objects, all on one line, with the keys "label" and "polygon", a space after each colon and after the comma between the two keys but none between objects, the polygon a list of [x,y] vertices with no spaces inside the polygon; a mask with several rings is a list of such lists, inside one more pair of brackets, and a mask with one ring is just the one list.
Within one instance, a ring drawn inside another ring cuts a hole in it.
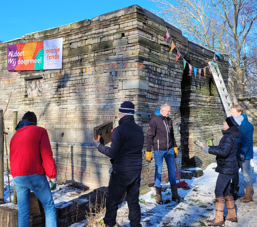
[{"label": "tall leafless tree against blue sky, right of the brick building", "polygon": [[[256,48],[255,0],[151,0],[155,13],[183,31],[192,41],[229,54],[229,90],[232,100],[245,95]],[[256,54],[256,53],[255,53]]]}]

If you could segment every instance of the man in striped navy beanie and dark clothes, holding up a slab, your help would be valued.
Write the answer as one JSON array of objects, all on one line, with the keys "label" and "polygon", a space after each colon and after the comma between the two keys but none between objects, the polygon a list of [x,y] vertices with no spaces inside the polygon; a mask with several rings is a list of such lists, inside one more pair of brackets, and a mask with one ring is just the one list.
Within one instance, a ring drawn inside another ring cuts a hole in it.
[{"label": "man in striped navy beanie and dark clothes, holding up a slab", "polygon": [[112,132],[110,147],[100,144],[100,137],[98,140],[93,139],[94,147],[111,158],[113,167],[104,216],[104,224],[107,227],[116,224],[118,203],[125,191],[127,191],[130,226],[142,226],[140,224],[139,188],[144,134],[142,128],[135,123],[134,113],[135,106],[132,102],[125,101],[121,104],[119,126]]}]

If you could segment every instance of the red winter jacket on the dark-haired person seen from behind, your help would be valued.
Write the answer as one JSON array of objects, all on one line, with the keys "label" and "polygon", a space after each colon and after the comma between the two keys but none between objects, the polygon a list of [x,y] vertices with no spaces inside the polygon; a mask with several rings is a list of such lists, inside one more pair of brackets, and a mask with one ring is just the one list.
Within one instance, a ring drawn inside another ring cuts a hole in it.
[{"label": "red winter jacket on the dark-haired person seen from behind", "polygon": [[29,125],[13,135],[10,166],[12,177],[43,174],[55,178],[56,165],[46,129]]}]

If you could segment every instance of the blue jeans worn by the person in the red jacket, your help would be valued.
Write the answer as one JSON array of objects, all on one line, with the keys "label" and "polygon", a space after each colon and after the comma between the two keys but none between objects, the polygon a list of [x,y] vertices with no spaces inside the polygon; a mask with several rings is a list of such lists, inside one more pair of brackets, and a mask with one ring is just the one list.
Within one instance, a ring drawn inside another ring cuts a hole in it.
[{"label": "blue jeans worn by the person in the red jacket", "polygon": [[13,178],[18,200],[18,227],[29,227],[30,190],[42,203],[45,212],[45,226],[57,227],[56,210],[52,192],[45,175],[23,175]]}]

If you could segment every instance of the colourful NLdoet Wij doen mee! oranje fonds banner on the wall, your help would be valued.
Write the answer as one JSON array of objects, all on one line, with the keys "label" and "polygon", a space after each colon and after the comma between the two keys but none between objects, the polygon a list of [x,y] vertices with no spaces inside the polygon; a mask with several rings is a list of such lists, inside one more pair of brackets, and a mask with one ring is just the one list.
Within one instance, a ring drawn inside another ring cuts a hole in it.
[{"label": "colourful NLdoet Wij doen mee! oranje fonds banner on the wall", "polygon": [[7,70],[61,69],[62,38],[7,46]]}]

